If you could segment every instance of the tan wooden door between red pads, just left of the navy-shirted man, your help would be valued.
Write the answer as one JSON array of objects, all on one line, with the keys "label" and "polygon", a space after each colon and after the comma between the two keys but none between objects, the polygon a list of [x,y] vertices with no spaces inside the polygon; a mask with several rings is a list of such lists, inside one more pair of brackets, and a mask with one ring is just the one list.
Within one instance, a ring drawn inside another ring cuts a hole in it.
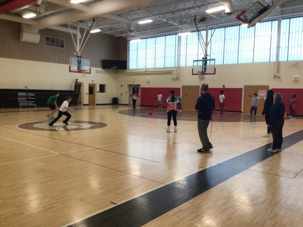
[{"label": "tan wooden door between red pads, just left of the navy-shirted man", "polygon": [[182,86],[182,108],[194,109],[199,93],[199,86]]}]

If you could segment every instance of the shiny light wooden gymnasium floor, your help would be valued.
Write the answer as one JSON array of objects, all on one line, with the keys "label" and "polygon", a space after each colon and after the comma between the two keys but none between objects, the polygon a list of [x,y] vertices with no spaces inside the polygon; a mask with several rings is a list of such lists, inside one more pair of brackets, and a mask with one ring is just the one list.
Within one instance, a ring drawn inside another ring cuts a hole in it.
[{"label": "shiny light wooden gymnasium floor", "polygon": [[[302,226],[303,119],[285,121],[283,150],[272,154],[263,116],[215,113],[206,154],[196,152],[188,110],[166,133],[165,110],[76,108],[71,122],[107,126],[29,130],[20,125],[47,122],[47,108],[0,110],[0,226]],[[108,222],[97,221],[102,214]]]}]

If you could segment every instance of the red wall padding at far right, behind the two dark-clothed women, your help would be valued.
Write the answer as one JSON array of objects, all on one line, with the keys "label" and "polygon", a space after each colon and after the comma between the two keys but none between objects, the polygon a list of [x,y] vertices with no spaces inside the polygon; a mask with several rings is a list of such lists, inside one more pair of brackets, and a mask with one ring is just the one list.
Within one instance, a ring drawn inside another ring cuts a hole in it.
[{"label": "red wall padding at far right, behind the two dark-clothed women", "polygon": [[285,104],[285,110],[287,115],[290,113],[289,100],[290,95],[296,94],[297,98],[297,109],[295,111],[296,115],[303,115],[303,89],[293,89],[293,88],[272,88],[274,93],[281,93],[283,97],[283,102]]}]

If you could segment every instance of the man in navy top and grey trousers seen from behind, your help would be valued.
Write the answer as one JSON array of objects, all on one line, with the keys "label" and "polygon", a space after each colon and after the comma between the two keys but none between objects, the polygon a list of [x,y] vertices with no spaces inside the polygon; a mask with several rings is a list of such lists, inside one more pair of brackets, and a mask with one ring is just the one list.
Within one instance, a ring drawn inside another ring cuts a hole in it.
[{"label": "man in navy top and grey trousers seen from behind", "polygon": [[198,149],[198,152],[209,153],[209,150],[213,148],[207,135],[207,128],[212,119],[212,115],[215,109],[215,99],[208,92],[208,84],[202,84],[200,89],[200,97],[198,97],[195,109],[198,115],[198,133],[202,143],[202,148]]}]

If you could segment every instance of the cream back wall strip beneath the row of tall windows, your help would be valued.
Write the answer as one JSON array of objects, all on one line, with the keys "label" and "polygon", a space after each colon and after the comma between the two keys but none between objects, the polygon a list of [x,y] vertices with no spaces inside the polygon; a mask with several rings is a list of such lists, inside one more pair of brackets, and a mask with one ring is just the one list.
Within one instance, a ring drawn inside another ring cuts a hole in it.
[{"label": "cream back wall strip beneath the row of tall windows", "polygon": [[[119,103],[128,103],[128,84],[140,84],[141,87],[182,87],[208,83],[210,87],[225,85],[243,88],[244,85],[269,85],[270,88],[303,88],[303,61],[297,62],[294,67],[290,62],[281,62],[279,73],[281,78],[273,77],[274,63],[218,65],[216,68],[216,75],[206,75],[203,80],[191,75],[191,67],[180,68],[180,79],[172,79],[172,72],[176,75],[176,68],[127,70],[116,76],[117,97]],[[300,80],[294,82],[293,76],[299,76]],[[136,79],[133,80],[133,77]]]}]

